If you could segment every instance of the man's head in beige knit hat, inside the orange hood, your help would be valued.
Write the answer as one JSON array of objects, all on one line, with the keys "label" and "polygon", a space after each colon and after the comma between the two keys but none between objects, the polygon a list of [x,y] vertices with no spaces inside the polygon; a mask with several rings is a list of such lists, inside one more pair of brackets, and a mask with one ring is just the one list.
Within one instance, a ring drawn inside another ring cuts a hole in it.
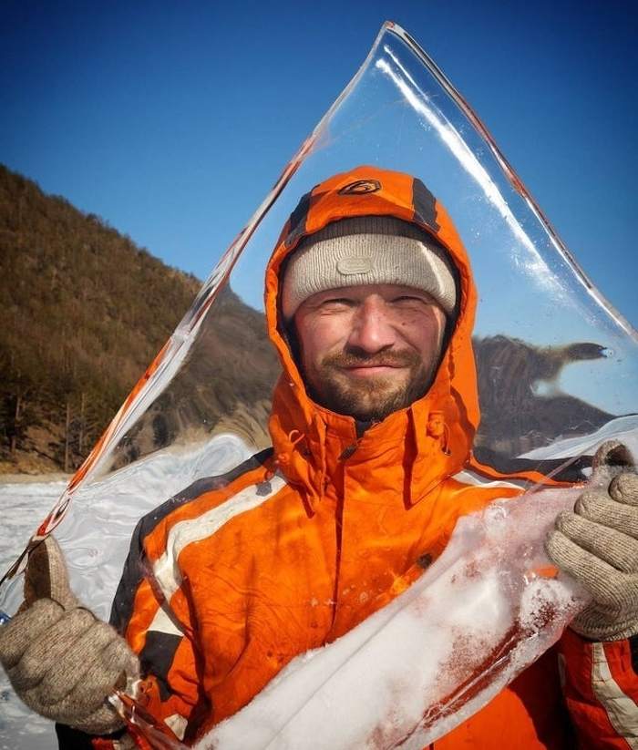
[{"label": "man's head in beige knit hat, inside the orange hood", "polygon": [[453,266],[431,235],[368,216],[301,243],[285,270],[282,312],[314,400],[378,422],[427,392],[456,299]]}]

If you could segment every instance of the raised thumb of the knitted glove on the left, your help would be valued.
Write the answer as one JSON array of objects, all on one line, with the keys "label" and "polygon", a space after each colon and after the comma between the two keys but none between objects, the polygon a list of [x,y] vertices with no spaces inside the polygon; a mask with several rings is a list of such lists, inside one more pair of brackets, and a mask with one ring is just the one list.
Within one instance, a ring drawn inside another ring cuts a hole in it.
[{"label": "raised thumb of the knitted glove on the left", "polygon": [[67,563],[56,539],[43,539],[29,553],[25,574],[25,607],[38,599],[52,599],[64,610],[77,607],[68,585]]}]

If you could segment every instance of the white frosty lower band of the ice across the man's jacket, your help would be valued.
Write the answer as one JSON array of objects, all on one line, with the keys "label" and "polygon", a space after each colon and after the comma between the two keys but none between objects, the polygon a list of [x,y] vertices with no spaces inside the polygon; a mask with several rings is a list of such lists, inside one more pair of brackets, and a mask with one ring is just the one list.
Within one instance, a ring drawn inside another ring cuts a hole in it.
[{"label": "white frosty lower band of the ice across the man's jacket", "polygon": [[420,749],[487,704],[586,601],[542,550],[582,488],[543,489],[458,521],[395,601],[290,663],[197,747]]}]

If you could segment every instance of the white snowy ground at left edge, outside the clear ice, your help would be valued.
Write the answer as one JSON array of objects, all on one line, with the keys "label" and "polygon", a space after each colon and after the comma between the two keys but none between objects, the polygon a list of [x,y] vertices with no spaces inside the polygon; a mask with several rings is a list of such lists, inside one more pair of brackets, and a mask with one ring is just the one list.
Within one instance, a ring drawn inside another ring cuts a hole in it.
[{"label": "white snowy ground at left edge, outside the clear ice", "polygon": [[[0,484],[0,571],[3,574],[64,488],[63,481]],[[0,668],[0,750],[52,750],[56,747],[53,723],[20,703]]]}]

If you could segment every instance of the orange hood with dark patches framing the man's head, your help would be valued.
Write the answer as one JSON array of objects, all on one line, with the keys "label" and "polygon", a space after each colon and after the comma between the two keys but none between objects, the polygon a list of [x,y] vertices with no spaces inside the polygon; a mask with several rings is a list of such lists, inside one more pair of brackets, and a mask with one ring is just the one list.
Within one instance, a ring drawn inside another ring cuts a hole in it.
[{"label": "orange hood with dark patches framing the man's head", "polygon": [[[458,317],[426,396],[357,437],[355,419],[318,406],[307,395],[279,325],[283,261],[306,236],[353,216],[394,216],[416,224],[442,244],[458,271]],[[310,508],[334,481],[338,462],[352,455],[377,470],[400,470],[413,504],[468,460],[478,426],[477,377],[471,345],[477,295],[468,254],[448,212],[414,177],[376,167],[334,175],[304,195],[283,227],[266,270],[269,335],[283,365],[275,387],[270,431],[279,466],[304,492]],[[401,486],[401,485],[399,485]]]}]

